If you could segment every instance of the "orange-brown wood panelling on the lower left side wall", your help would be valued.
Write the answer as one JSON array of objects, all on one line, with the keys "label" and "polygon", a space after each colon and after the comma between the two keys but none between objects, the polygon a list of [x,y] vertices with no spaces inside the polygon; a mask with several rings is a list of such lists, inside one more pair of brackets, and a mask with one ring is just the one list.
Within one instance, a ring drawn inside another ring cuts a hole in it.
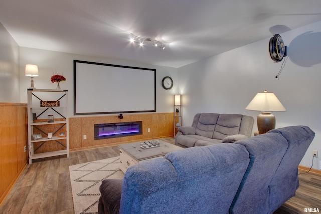
[{"label": "orange-brown wood panelling on the lower left side wall", "polygon": [[[0,204],[27,165],[27,104],[0,103]],[[27,150],[28,151],[28,150]]]}]

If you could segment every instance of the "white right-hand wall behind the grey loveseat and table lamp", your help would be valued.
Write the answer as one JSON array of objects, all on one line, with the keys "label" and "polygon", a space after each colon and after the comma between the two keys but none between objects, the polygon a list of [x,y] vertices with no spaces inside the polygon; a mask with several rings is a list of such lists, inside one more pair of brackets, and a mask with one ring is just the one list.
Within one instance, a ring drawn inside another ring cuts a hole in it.
[{"label": "white right-hand wall behind the grey loveseat and table lamp", "polygon": [[[274,92],[287,109],[273,112],[276,128],[306,125],[316,133],[301,162],[310,167],[312,150],[321,154],[321,22],[281,36],[288,46],[289,57],[278,80],[275,76],[284,59],[279,63],[271,60],[270,38],[179,68],[183,125],[191,125],[196,113],[237,113],[253,116],[256,132],[259,112],[245,107],[256,93],[266,89]],[[319,160],[314,158],[313,168],[319,169]]]}]

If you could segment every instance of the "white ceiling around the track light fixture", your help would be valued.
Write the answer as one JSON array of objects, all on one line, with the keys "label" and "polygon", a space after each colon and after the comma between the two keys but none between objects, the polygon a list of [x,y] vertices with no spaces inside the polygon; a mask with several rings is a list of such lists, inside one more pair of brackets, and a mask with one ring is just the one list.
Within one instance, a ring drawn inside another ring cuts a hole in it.
[{"label": "white ceiling around the track light fixture", "polygon": [[[0,0],[0,23],[21,47],[178,68],[320,21],[320,9],[320,0]],[[130,43],[130,33],[165,49]]]}]

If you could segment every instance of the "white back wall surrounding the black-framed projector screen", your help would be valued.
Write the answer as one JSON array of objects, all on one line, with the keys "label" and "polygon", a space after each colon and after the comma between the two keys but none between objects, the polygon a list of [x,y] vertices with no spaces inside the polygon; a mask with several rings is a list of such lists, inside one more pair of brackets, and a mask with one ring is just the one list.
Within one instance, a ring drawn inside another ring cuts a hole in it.
[{"label": "white back wall surrounding the black-framed projector screen", "polygon": [[[159,113],[173,112],[173,95],[177,91],[178,84],[175,84],[171,90],[164,90],[161,80],[164,76],[171,76],[174,83],[177,83],[177,69],[138,64],[128,61],[112,60],[99,57],[83,56],[70,53],[48,51],[42,49],[33,49],[20,47],[20,97],[21,102],[27,102],[27,88],[30,87],[30,77],[25,76],[25,65],[35,64],[38,66],[39,77],[34,78],[34,86],[39,89],[55,89],[57,84],[50,81],[53,72],[64,75],[65,82],[60,83],[62,89],[69,91],[69,117],[76,117],[73,114],[74,106],[74,86],[73,86],[73,60],[83,60],[98,63],[108,63],[115,65],[133,66],[156,69],[156,111]],[[88,74],[90,78],[90,74]],[[121,84],[121,83],[120,83]],[[90,87],[86,85],[84,87]],[[97,95],[93,95],[97,96]],[[137,101],[139,102],[139,101]],[[85,116],[85,115],[84,115]],[[88,115],[87,115],[88,116]],[[97,115],[94,115],[97,116]]]}]

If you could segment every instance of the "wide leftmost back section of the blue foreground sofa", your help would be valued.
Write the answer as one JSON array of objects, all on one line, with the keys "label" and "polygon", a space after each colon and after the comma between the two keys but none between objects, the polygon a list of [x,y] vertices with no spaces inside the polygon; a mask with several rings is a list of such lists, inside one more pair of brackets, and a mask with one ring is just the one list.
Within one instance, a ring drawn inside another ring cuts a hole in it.
[{"label": "wide leftmost back section of the blue foreground sofa", "polygon": [[249,163],[244,146],[215,144],[129,167],[120,213],[227,213]]}]

